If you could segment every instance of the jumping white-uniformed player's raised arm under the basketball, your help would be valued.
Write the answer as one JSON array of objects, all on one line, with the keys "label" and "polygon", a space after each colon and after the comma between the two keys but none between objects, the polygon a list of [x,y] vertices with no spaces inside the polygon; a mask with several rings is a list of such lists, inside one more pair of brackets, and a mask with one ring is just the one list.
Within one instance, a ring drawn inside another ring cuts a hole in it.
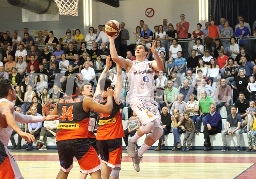
[{"label": "jumping white-uniformed player's raised arm under the basketball", "polygon": [[[128,60],[128,59],[124,59],[123,57],[121,56],[118,56],[117,54],[117,51],[116,51],[116,46],[115,46],[115,39],[117,38],[117,36],[109,36],[107,33],[106,33],[107,37],[109,38],[109,44],[110,44],[110,55],[111,55],[111,58],[112,60],[119,64],[121,67],[127,69],[129,66],[131,66],[132,64],[132,61],[131,60]],[[129,62],[130,61],[130,62]],[[131,64],[129,64],[131,63]]]}]

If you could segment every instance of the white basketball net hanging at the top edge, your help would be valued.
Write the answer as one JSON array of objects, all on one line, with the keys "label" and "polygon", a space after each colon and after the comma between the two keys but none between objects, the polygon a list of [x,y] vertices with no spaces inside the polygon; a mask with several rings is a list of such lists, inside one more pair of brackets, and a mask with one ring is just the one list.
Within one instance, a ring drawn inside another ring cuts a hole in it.
[{"label": "white basketball net hanging at the top edge", "polygon": [[59,8],[59,15],[78,16],[78,0],[54,0]]}]

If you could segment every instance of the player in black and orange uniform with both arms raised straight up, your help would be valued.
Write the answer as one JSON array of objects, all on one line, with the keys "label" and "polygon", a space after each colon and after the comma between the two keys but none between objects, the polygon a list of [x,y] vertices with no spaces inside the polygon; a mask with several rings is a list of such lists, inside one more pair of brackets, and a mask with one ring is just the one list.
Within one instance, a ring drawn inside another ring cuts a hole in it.
[{"label": "player in black and orange uniform with both arms raised straight up", "polygon": [[97,127],[97,146],[102,161],[102,177],[109,179],[109,167],[111,167],[111,179],[119,178],[119,171],[122,161],[122,137],[124,130],[122,127],[122,117],[119,110],[119,97],[122,92],[122,70],[117,65],[117,82],[112,99],[106,98],[107,88],[111,88],[111,81],[106,79],[106,73],[111,67],[110,56],[107,56],[106,67],[99,78],[99,85],[94,94],[95,101],[106,104],[113,101],[113,110],[110,115],[104,112],[98,113],[99,121]]}]

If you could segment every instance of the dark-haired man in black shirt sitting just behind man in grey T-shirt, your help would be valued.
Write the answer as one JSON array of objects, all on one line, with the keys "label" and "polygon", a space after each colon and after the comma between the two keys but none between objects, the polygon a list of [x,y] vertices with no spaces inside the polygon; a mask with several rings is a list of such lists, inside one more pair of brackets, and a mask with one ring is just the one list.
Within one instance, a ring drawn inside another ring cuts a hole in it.
[{"label": "dark-haired man in black shirt sitting just behind man in grey T-shirt", "polygon": [[[247,124],[246,109],[249,108],[249,100],[245,99],[245,93],[243,91],[239,93],[239,100],[235,101],[235,106],[238,108],[238,114],[241,116],[242,119],[245,120],[241,126],[243,129]],[[243,133],[245,133],[245,131]]]}]

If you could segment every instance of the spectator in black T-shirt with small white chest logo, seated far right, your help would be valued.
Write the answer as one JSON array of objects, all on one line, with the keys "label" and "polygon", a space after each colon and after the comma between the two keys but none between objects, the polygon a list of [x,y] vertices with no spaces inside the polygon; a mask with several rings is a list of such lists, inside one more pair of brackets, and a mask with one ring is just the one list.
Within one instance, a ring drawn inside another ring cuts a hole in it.
[{"label": "spectator in black T-shirt with small white chest logo, seated far right", "polygon": [[246,76],[245,73],[245,69],[240,68],[238,70],[238,76],[236,76],[233,83],[231,83],[231,87],[233,87],[233,102],[237,101],[240,92],[244,92],[245,98],[250,101],[250,93],[246,89],[249,82],[249,76]]}]

